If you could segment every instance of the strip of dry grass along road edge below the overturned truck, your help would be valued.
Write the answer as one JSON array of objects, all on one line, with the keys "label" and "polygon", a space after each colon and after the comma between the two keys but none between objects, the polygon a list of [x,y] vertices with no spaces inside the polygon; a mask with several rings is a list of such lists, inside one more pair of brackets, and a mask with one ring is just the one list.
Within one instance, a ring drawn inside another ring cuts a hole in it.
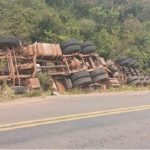
[{"label": "strip of dry grass along road edge below the overturned truck", "polygon": [[[107,89],[106,92],[125,92],[125,91],[145,91],[145,90],[150,90],[150,86],[146,86],[146,87],[132,87],[132,86],[121,86],[121,87],[117,87],[117,88],[110,88]],[[80,94],[88,94],[91,93],[93,91],[89,90],[88,88],[85,89],[81,89],[81,88],[75,88],[75,89],[71,89],[69,91],[65,91],[63,93],[63,95],[80,95]],[[97,88],[96,91],[97,93],[104,93],[104,90]],[[7,102],[7,101],[12,101],[16,98],[26,98],[26,97],[47,97],[47,96],[51,96],[51,91],[42,91],[42,90],[34,90],[34,91],[30,91],[26,94],[22,94],[22,95],[15,95],[13,90],[8,87],[7,85],[4,86],[4,88],[1,90],[0,92],[0,102]]]}]

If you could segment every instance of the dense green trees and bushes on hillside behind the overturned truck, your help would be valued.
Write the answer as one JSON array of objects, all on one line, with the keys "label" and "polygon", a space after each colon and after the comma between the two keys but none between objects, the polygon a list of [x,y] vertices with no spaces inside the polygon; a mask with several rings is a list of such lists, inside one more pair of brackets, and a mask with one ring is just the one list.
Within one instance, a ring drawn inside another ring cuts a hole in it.
[{"label": "dense green trees and bushes on hillside behind the overturned truck", "polygon": [[26,42],[92,40],[105,58],[150,66],[150,0],[1,0],[0,35]]}]

